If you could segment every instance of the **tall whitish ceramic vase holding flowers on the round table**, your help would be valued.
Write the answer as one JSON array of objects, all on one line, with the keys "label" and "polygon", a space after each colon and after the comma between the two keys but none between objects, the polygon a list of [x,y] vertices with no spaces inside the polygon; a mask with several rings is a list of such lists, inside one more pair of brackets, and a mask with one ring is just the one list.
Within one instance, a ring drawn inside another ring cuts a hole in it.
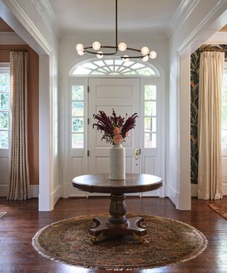
[{"label": "tall whitish ceramic vase holding flowers on the round table", "polygon": [[114,144],[110,149],[109,179],[126,179],[126,149],[121,144]]}]

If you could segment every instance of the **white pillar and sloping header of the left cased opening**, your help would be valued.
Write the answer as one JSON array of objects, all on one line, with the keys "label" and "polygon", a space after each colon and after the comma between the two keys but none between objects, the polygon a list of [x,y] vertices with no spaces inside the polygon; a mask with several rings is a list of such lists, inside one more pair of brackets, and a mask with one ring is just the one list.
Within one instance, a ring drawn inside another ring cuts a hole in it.
[{"label": "white pillar and sloping header of the left cased opening", "polygon": [[42,56],[40,70],[47,73],[40,73],[40,96],[47,96],[47,100],[41,100],[40,97],[39,210],[52,210],[60,196],[57,151],[57,38],[48,21],[42,16],[36,1],[0,0],[0,7],[4,21]]}]

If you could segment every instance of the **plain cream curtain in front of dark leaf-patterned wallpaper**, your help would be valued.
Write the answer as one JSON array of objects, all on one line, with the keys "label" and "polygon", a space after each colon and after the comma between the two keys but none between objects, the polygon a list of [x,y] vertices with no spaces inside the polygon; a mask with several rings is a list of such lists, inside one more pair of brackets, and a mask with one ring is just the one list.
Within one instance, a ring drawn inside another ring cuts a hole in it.
[{"label": "plain cream curtain in front of dark leaf-patterned wallpaper", "polygon": [[203,52],[199,67],[198,198],[222,198],[221,90],[224,53]]}]

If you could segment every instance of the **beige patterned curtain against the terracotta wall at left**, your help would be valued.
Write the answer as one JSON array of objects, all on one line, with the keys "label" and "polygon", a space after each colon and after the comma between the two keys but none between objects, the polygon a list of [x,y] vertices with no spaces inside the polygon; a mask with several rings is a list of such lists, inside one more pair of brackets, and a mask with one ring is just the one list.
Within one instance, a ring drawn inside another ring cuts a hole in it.
[{"label": "beige patterned curtain against the terracotta wall at left", "polygon": [[28,53],[10,53],[11,74],[11,157],[9,200],[31,198],[28,168]]}]

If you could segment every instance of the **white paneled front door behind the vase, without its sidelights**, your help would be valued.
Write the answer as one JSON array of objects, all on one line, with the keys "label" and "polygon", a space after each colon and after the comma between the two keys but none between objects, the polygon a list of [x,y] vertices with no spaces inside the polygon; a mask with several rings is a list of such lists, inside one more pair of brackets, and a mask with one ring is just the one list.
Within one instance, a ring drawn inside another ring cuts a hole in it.
[{"label": "white paneled front door behind the vase, without its sidelights", "polygon": [[[102,133],[93,129],[97,121],[93,114],[103,110],[108,116],[113,109],[116,115],[126,117],[138,113],[140,116],[140,79],[138,78],[89,78],[88,102],[88,167],[89,173],[106,173],[109,171],[109,147],[101,141]],[[140,157],[135,159],[135,147],[140,149],[140,118],[136,119],[135,129],[125,139],[126,172],[140,173]]]}]

